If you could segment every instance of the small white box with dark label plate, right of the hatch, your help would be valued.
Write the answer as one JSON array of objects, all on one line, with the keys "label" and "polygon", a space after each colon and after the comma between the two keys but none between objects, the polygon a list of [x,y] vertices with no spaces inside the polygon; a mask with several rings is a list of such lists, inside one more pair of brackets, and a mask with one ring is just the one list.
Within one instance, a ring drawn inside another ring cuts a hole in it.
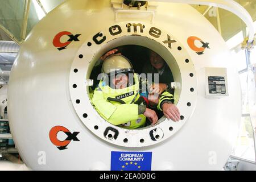
[{"label": "small white box with dark label plate, right of the hatch", "polygon": [[229,95],[226,68],[205,68],[205,91],[207,98]]}]

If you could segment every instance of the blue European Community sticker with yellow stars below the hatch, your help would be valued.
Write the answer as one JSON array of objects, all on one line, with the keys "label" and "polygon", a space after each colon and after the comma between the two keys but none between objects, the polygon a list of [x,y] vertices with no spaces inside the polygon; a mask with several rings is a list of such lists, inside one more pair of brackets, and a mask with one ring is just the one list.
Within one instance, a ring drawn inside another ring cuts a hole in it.
[{"label": "blue European Community sticker with yellow stars below the hatch", "polygon": [[111,171],[151,171],[152,152],[111,152]]}]

